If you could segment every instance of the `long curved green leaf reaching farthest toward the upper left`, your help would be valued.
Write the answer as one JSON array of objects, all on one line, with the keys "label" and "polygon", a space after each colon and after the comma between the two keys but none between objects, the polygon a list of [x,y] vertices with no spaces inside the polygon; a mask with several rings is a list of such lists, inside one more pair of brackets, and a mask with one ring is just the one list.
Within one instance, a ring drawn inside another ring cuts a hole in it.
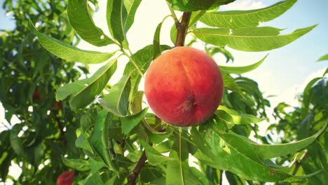
[{"label": "long curved green leaf reaching farthest toward the upper left", "polygon": [[58,41],[53,37],[47,36],[39,32],[36,27],[34,27],[33,23],[29,20],[29,27],[31,27],[34,34],[38,37],[41,45],[46,48],[50,53],[60,57],[67,62],[82,62],[86,64],[98,64],[108,60],[112,57],[114,53],[100,53],[97,51],[90,50],[81,50],[79,48],[75,48],[67,43],[63,43],[62,41]]}]

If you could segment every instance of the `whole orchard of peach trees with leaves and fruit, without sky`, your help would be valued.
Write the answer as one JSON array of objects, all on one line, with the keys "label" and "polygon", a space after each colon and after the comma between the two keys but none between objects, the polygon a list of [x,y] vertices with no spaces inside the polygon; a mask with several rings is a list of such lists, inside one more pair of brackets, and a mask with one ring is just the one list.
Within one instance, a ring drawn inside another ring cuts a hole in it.
[{"label": "whole orchard of peach trees with leaves and fruit, without sky", "polygon": [[228,64],[233,52],[277,55],[314,32],[315,22],[270,26],[300,2],[225,11],[234,0],[158,1],[168,14],[138,50],[129,33],[147,29],[135,22],[146,0],[3,2],[16,27],[0,32],[1,182],[327,184],[327,68],[269,121],[270,96],[245,74],[273,56]]}]

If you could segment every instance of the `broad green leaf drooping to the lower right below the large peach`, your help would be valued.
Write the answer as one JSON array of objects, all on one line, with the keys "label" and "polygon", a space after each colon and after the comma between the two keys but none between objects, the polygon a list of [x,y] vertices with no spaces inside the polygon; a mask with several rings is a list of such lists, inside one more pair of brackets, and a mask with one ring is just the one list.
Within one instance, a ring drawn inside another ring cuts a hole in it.
[{"label": "broad green leaf drooping to the lower right below the large peach", "polygon": [[[207,123],[202,125],[202,140],[196,142],[199,150],[194,154],[201,163],[210,165],[219,170],[227,170],[237,174],[243,179],[252,179],[259,181],[282,181],[292,175],[286,172],[269,167],[259,160],[259,158],[250,157],[249,153],[254,153],[254,149],[247,149],[247,153],[239,151],[237,147],[231,146],[230,143],[224,142],[220,135],[224,135],[217,123]],[[196,130],[193,130],[196,132]],[[193,133],[191,135],[193,137]],[[205,145],[206,144],[206,145]],[[214,155],[214,156],[213,156]],[[252,155],[253,156],[253,155]]]}]

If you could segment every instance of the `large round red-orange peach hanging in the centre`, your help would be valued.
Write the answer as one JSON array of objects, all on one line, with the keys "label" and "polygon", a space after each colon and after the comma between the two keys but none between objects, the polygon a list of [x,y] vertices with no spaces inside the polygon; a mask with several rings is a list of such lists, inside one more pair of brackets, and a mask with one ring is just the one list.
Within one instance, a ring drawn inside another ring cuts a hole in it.
[{"label": "large round red-orange peach hanging in the centre", "polygon": [[144,88],[156,116],[172,125],[191,126],[214,114],[224,84],[212,57],[181,46],[166,51],[151,63]]}]

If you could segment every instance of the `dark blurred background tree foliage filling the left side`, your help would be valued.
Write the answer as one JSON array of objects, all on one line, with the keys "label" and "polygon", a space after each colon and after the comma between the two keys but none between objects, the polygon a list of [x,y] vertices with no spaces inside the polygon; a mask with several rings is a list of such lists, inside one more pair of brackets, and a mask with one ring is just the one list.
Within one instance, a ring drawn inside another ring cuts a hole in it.
[{"label": "dark blurred background tree foliage filling the left side", "polygon": [[[61,156],[84,156],[75,147],[75,132],[83,111],[71,111],[67,102],[57,102],[56,90],[77,81],[81,72],[88,74],[88,68],[76,67],[48,53],[29,28],[26,15],[42,25],[42,32],[76,45],[79,39],[62,14],[66,4],[5,1],[4,8],[12,13],[16,27],[0,34],[0,101],[8,121],[1,123],[6,130],[0,133],[0,178],[13,178],[7,175],[13,161],[22,169],[15,183],[55,184],[57,176],[69,169],[57,163]],[[13,115],[21,123],[11,125]]]}]

